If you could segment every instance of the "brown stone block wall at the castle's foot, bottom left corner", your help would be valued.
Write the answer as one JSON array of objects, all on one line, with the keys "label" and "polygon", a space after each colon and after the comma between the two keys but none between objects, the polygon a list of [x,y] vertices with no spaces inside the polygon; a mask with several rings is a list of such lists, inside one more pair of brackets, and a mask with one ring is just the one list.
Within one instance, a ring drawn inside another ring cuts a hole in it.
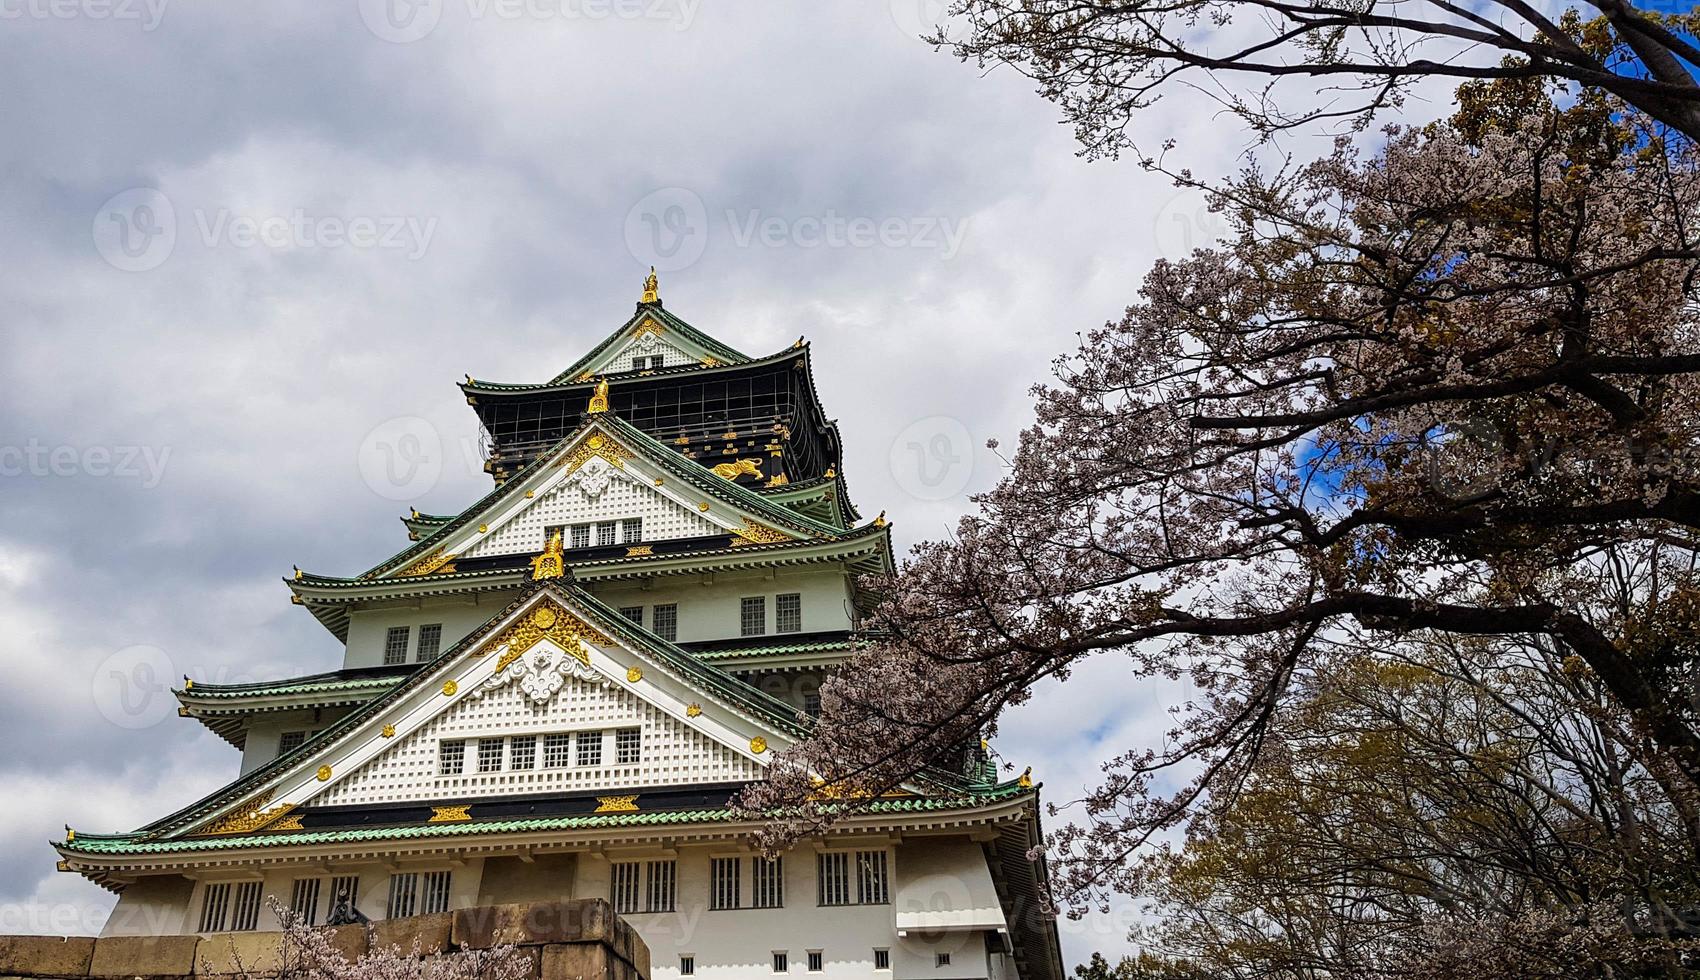
[{"label": "brown stone block wall at the castle's foot, bottom left corner", "polygon": [[[484,905],[440,915],[389,919],[332,929],[350,960],[369,948],[415,944],[425,956],[456,949],[517,946],[530,960],[534,980],[648,980],[649,948],[600,898]],[[282,934],[216,932],[209,936],[0,936],[0,980],[228,980],[277,975]]]}]

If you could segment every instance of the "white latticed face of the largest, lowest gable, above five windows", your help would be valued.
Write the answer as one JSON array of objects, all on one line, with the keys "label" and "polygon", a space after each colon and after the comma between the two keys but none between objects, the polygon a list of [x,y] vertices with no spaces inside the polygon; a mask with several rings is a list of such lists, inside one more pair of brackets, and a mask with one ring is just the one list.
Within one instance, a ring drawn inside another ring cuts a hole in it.
[{"label": "white latticed face of the largest, lowest gable, above five windows", "polygon": [[[617,728],[641,732],[638,764],[617,764],[614,747]],[[604,733],[600,764],[544,767],[542,737],[578,732]],[[502,771],[478,772],[478,740],[502,738],[503,750],[512,754],[513,737],[539,742],[534,767],[512,769],[512,759],[505,755]],[[437,745],[445,738],[466,740],[461,776],[437,774]],[[716,744],[632,691],[581,677],[568,677],[559,691],[541,704],[532,701],[520,684],[466,698],[396,742],[313,800],[313,805],[595,793],[644,786],[741,783],[758,779],[762,774],[762,766],[756,762]]]}]

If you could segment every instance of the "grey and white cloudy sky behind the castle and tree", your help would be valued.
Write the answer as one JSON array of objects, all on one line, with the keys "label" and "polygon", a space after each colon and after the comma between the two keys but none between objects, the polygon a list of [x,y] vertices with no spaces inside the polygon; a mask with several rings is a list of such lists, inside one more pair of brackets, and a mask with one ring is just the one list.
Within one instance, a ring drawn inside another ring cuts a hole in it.
[{"label": "grey and white cloudy sky behind the castle and tree", "polygon": [[[862,510],[949,527],[1027,386],[1212,219],[933,53],[928,7],[0,3],[0,932],[99,927],[48,840],[236,771],[165,684],[335,667],[279,578],[486,490],[454,383],[549,378],[651,262],[734,347],[808,335]],[[1216,172],[1248,145],[1202,104],[1141,128]],[[1073,798],[1161,732],[1124,675],[1047,689],[1000,749]],[[1080,960],[1124,924],[1064,932]]]}]

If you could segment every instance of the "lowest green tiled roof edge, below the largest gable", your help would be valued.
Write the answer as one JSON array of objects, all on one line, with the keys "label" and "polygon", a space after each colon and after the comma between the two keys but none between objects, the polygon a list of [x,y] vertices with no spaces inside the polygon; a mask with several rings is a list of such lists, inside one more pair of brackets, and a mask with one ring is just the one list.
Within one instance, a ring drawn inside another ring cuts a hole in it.
[{"label": "lowest green tiled roof edge, below the largest gable", "polygon": [[[857,813],[901,815],[944,810],[971,810],[986,803],[1015,800],[1037,793],[1037,786],[1005,783],[959,796],[906,796],[876,800],[857,806]],[[231,834],[216,837],[148,839],[144,834],[78,834],[75,840],[54,842],[71,854],[184,854],[197,851],[231,851],[246,847],[299,847],[308,844],[357,844],[366,840],[410,840],[425,837],[468,837],[479,834],[530,834],[549,830],[598,830],[620,827],[677,827],[690,823],[728,823],[740,820],[731,808],[658,810],[654,813],[600,813],[580,817],[539,817],[529,820],[473,820],[469,823],[410,823],[393,827],[348,827],[333,830],[299,830],[291,834]]]}]

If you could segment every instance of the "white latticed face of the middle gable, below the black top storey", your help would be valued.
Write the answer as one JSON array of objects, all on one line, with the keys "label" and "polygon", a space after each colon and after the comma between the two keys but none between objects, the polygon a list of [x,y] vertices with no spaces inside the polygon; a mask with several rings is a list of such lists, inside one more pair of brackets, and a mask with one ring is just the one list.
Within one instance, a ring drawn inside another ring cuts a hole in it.
[{"label": "white latticed face of the middle gable, below the black top storey", "polygon": [[668,499],[651,480],[636,476],[631,468],[614,466],[600,456],[592,456],[552,490],[532,497],[518,514],[483,534],[464,555],[473,558],[541,551],[547,544],[547,527],[627,517],[643,517],[644,541],[700,538],[726,531],[697,509]]}]

